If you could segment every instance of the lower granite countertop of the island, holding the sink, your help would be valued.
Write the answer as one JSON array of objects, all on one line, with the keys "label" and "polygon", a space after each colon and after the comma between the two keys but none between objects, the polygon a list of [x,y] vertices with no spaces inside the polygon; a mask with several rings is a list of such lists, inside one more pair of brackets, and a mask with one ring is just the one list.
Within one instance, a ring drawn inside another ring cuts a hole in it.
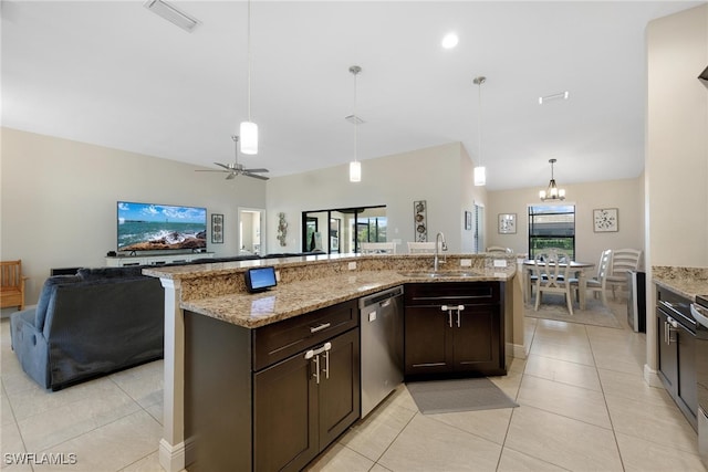
[{"label": "lower granite countertop of the island, holding the sink", "polygon": [[[464,272],[464,271],[459,271]],[[256,328],[314,310],[369,295],[404,283],[508,281],[514,271],[473,271],[479,275],[447,275],[421,279],[391,271],[356,271],[323,279],[304,280],[278,285],[263,293],[232,293],[181,302],[183,310],[221,319],[238,326]]]}]

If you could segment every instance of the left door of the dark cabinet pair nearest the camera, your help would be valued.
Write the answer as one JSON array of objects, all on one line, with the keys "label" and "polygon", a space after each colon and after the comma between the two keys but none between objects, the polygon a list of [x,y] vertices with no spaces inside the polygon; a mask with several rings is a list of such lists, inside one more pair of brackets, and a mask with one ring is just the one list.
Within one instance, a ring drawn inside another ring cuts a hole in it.
[{"label": "left door of the dark cabinet pair nearest the camera", "polygon": [[301,470],[320,452],[313,373],[312,360],[295,355],[254,374],[253,470]]}]

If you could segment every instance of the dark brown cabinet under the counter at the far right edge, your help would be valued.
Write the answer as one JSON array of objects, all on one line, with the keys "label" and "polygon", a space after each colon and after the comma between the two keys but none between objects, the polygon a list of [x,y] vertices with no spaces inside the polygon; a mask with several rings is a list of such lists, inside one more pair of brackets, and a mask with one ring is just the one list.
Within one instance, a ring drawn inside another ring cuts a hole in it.
[{"label": "dark brown cabinet under the counter at the far right edge", "polygon": [[688,422],[696,429],[696,324],[689,314],[689,300],[666,289],[657,290],[658,376]]}]

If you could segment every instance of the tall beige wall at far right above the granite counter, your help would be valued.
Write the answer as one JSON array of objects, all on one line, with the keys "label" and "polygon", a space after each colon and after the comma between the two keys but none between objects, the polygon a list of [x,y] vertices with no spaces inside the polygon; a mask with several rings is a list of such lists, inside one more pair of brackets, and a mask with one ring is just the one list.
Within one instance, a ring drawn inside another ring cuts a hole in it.
[{"label": "tall beige wall at far right above the granite counter", "polygon": [[708,4],[647,27],[652,265],[708,266]]}]

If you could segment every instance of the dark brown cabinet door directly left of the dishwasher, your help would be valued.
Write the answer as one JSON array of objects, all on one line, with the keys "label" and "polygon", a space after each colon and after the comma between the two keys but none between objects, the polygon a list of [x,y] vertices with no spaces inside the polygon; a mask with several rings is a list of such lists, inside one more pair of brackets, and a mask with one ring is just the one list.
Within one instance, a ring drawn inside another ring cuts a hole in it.
[{"label": "dark brown cabinet door directly left of the dishwasher", "polygon": [[358,329],[330,340],[327,360],[320,355],[320,449],[326,448],[358,419],[361,410]]}]

